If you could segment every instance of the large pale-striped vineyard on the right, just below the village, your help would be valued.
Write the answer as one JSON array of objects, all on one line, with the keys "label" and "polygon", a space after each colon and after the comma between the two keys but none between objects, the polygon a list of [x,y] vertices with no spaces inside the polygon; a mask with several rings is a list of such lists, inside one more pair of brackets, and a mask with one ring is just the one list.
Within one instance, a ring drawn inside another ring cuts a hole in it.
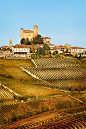
[{"label": "large pale-striped vineyard on the right, just below the village", "polygon": [[[37,67],[25,67],[37,79],[50,82],[50,86],[67,89],[72,83],[83,83],[86,88],[86,61],[76,59],[34,59]],[[40,85],[43,85],[41,83]],[[44,86],[48,85],[44,83]]]}]

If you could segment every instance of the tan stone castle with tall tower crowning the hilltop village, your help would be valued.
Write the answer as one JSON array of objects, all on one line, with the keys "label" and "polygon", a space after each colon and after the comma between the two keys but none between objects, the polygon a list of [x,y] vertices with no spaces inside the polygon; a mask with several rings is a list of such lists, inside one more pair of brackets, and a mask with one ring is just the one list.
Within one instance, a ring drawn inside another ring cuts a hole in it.
[{"label": "tan stone castle with tall tower crowning the hilltop village", "polygon": [[33,31],[23,30],[23,28],[21,28],[20,35],[21,35],[20,40],[22,38],[25,38],[25,39],[28,38],[29,41],[31,41],[31,39],[35,38],[38,35],[38,26],[34,25],[33,26]]}]

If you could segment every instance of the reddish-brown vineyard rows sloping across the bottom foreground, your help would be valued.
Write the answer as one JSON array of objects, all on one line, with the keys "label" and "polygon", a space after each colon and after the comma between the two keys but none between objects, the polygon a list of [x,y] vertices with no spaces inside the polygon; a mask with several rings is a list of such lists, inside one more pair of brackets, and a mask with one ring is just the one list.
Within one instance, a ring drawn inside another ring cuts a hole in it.
[{"label": "reddish-brown vineyard rows sloping across the bottom foreground", "polygon": [[86,112],[85,106],[72,108],[80,112],[67,113],[67,109],[59,111],[48,111],[33,117],[29,117],[10,124],[3,124],[1,129],[85,129]]}]

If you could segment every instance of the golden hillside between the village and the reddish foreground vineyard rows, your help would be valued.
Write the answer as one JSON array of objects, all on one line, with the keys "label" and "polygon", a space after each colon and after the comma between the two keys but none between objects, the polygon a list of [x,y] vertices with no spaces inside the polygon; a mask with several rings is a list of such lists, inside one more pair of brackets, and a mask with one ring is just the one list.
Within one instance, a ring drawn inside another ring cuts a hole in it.
[{"label": "golden hillside between the village and the reddish foreground vineyard rows", "polygon": [[[42,58],[34,61],[37,67],[30,59],[0,59],[0,112],[2,115],[0,124],[50,110],[85,104],[85,89],[84,91],[73,89],[72,92],[69,89],[69,84],[72,82],[74,84],[71,88],[74,88],[75,83],[78,87],[78,84],[82,87],[86,86],[85,62],[58,58]],[[58,76],[66,78],[58,79]]]}]

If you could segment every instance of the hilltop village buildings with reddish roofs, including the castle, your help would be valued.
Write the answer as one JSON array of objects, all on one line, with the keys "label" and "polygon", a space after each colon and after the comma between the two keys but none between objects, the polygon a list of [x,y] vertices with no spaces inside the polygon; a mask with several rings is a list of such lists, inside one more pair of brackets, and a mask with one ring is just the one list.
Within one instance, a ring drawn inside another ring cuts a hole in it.
[{"label": "hilltop village buildings with reddish roofs, including the castle", "polygon": [[[33,26],[33,31],[31,30],[23,30],[23,28],[20,29],[20,40],[21,39],[29,39],[29,41],[33,40],[38,35],[38,26]],[[21,43],[16,44],[15,46],[12,45],[12,40],[9,41],[9,46],[1,46],[0,50],[0,56],[6,57],[6,56],[12,56],[12,57],[30,57],[30,49],[34,48],[35,52],[37,51],[37,48],[44,46],[44,44],[48,44],[50,47],[50,52],[53,53],[57,51],[58,53],[64,53],[68,52],[71,55],[75,56],[77,55],[85,55],[85,48],[82,47],[71,47],[71,45],[66,44],[64,46],[57,45],[50,43],[50,37],[42,37],[43,44],[36,44],[36,45],[22,45]]]}]

